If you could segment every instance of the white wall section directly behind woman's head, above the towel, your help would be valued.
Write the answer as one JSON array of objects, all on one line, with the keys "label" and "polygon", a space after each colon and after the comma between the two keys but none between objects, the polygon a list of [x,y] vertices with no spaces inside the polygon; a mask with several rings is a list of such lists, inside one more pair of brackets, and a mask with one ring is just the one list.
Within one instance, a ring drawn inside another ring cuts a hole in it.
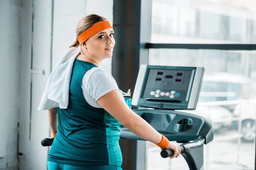
[{"label": "white wall section directly behind woman's head, above the towel", "polygon": [[54,1],[52,68],[76,40],[76,25],[86,14],[87,1],[90,0]]}]

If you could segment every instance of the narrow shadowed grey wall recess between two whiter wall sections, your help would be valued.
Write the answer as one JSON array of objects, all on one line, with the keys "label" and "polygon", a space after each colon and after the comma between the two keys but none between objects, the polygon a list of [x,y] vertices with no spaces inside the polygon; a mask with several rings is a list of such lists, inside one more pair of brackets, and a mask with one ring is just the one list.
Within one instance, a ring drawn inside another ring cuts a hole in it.
[{"label": "narrow shadowed grey wall recess between two whiter wall sections", "polygon": [[[31,100],[31,59],[32,59],[32,0],[22,2],[20,13],[20,116],[19,116],[19,167],[29,167],[31,163],[30,100]],[[20,168],[25,169],[25,168]],[[29,169],[29,168],[28,168]]]}]

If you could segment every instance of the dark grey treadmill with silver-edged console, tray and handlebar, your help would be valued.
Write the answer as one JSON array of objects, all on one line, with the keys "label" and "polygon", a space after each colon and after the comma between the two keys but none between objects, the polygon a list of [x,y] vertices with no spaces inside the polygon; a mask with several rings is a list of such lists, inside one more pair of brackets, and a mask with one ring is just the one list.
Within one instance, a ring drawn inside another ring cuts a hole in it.
[{"label": "dark grey treadmill with silver-edged console, tray and handlebar", "polygon": [[[190,170],[204,170],[204,144],[213,140],[209,119],[180,110],[195,110],[204,76],[202,67],[141,65],[132,105],[133,110],[169,141],[180,144],[180,154]],[[177,111],[179,110],[179,111]],[[120,138],[145,140],[126,127],[120,127]],[[163,158],[173,151],[163,149]]]}]

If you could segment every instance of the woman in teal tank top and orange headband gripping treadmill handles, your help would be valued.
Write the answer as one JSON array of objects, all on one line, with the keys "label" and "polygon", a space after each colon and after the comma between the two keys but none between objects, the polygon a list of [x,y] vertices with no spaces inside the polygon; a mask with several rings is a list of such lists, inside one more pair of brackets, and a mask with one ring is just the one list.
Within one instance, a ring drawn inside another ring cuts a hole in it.
[{"label": "woman in teal tank top and orange headband gripping treadmill handles", "polygon": [[81,53],[73,63],[68,107],[47,110],[55,137],[47,159],[49,170],[122,170],[121,124],[162,149],[174,150],[171,159],[180,155],[177,144],[128,107],[115,79],[99,67],[103,59],[112,57],[113,34],[111,24],[95,14],[77,25],[77,40],[70,48],[81,46]]}]

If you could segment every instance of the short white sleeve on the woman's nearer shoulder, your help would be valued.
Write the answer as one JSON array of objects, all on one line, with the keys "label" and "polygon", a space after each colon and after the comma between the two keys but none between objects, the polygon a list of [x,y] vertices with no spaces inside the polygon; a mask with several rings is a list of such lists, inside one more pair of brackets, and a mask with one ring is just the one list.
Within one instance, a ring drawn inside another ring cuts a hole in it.
[{"label": "short white sleeve on the woman's nearer shoulder", "polygon": [[85,90],[95,101],[108,92],[119,89],[112,75],[102,68],[93,70],[89,77],[83,79],[83,84],[85,84]]}]

